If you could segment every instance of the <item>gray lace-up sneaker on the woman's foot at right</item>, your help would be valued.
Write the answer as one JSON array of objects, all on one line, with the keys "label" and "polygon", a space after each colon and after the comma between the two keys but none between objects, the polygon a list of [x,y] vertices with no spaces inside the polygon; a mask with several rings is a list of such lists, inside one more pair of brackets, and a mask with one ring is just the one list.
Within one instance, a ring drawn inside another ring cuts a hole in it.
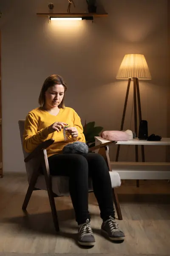
[{"label": "gray lace-up sneaker on the woman's foot at right", "polygon": [[124,240],[125,234],[119,228],[119,225],[113,217],[102,223],[102,232],[107,234],[110,240]]}]

